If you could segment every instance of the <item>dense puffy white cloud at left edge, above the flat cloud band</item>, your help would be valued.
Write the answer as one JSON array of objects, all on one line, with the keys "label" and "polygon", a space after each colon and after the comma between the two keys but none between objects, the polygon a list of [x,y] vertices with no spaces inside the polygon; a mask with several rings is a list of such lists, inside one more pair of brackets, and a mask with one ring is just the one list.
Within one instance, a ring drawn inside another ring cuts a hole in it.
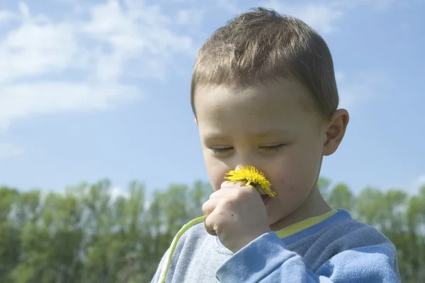
[{"label": "dense puffy white cloud at left edge, above the flat cloud band", "polygon": [[0,45],[0,83],[67,69],[78,52],[73,32],[70,24],[33,22],[9,32]]}]

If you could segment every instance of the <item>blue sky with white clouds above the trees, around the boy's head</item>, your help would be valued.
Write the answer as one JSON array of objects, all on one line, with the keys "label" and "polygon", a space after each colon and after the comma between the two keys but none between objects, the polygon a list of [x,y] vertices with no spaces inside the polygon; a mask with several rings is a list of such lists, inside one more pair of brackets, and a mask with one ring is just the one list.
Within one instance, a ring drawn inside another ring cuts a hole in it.
[{"label": "blue sky with white clouds above the trees, around the boy's head", "polygon": [[254,6],[297,16],[334,56],[351,114],[322,175],[354,192],[425,183],[425,1],[2,1],[0,183],[148,190],[208,180],[189,101],[196,51]]}]

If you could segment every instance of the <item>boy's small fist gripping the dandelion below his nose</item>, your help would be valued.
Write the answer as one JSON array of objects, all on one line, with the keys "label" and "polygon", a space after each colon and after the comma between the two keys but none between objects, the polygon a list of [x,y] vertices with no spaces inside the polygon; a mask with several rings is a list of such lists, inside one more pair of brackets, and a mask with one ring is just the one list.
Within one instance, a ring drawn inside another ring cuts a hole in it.
[{"label": "boy's small fist gripping the dandelion below his nose", "polygon": [[208,217],[205,229],[233,253],[244,248],[263,233],[268,226],[266,206],[259,192],[243,183],[222,183],[220,190],[210,195],[202,210]]}]

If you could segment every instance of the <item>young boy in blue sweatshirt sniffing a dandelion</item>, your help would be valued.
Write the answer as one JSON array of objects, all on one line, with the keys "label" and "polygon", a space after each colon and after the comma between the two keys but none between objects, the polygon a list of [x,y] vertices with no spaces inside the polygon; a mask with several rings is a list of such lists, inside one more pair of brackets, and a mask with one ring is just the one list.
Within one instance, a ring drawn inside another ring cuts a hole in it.
[{"label": "young boy in blue sweatshirt sniffing a dandelion", "polygon": [[[399,282],[395,246],[317,188],[348,124],[322,37],[272,10],[242,13],[198,52],[191,102],[215,192],[205,223],[180,239],[167,283]],[[225,182],[244,165],[276,196]]]}]

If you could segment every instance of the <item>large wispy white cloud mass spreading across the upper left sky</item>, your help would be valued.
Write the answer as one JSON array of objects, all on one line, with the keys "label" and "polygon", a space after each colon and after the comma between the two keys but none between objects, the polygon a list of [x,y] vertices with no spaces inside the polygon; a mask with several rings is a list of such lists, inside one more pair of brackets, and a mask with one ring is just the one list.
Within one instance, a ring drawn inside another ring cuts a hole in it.
[{"label": "large wispy white cloud mass spreading across the upper left sky", "polygon": [[163,79],[176,54],[195,51],[191,37],[176,33],[172,16],[158,6],[137,0],[78,5],[63,16],[35,15],[23,3],[18,11],[0,10],[0,25],[13,21],[0,34],[0,129],[16,118],[114,108],[142,94],[129,80]]}]

